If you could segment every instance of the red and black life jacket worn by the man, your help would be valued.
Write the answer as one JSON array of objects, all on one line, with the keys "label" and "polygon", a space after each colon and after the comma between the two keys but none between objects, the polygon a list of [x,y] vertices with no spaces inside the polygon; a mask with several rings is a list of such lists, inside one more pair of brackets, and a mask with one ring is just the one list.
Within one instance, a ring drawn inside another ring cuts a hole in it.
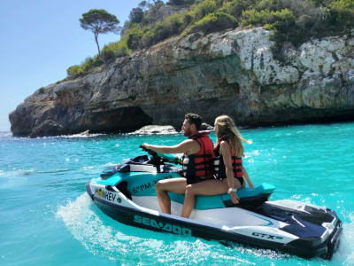
[{"label": "red and black life jacket worn by the man", "polygon": [[[184,153],[183,174],[186,178],[190,177],[206,177],[212,178],[213,175],[213,147],[212,139],[208,137],[209,132],[196,133],[189,137],[196,140],[200,145],[200,151],[195,154]],[[202,178],[204,179],[204,178]]]}]

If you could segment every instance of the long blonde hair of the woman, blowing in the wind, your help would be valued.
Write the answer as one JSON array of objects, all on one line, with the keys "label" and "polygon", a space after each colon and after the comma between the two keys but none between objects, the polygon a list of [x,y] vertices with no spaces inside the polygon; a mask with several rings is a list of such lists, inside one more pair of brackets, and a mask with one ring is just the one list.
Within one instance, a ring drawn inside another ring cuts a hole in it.
[{"label": "long blonde hair of the woman, blowing in the wind", "polygon": [[244,139],[240,132],[237,130],[235,126],[234,120],[228,115],[220,115],[215,119],[215,128],[218,127],[218,141],[220,142],[220,137],[228,136],[229,145],[231,145],[231,149],[235,151],[235,156],[243,157],[244,149],[242,145],[242,141],[247,144],[251,144],[251,140]]}]

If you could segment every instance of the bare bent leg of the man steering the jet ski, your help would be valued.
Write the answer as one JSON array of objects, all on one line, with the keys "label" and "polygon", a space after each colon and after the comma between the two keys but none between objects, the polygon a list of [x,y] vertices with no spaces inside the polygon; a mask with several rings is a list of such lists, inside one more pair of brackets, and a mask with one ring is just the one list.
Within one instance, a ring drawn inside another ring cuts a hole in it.
[{"label": "bare bent leg of the man steering the jet ski", "polygon": [[171,215],[171,199],[168,197],[167,192],[184,194],[186,186],[187,181],[183,177],[158,181],[155,185],[155,191],[158,195],[158,205],[163,213]]}]

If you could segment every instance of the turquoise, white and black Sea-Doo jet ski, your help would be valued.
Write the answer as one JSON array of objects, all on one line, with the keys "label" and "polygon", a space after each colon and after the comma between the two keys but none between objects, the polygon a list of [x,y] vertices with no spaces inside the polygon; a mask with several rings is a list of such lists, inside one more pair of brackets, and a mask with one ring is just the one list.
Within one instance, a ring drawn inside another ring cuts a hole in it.
[{"label": "turquoise, white and black Sea-Doo jet ski", "polygon": [[91,179],[87,192],[104,214],[112,219],[185,237],[219,240],[279,250],[304,258],[331,259],[338,246],[342,222],[335,211],[293,200],[269,201],[272,184],[237,191],[235,205],[229,194],[196,196],[189,218],[182,218],[184,195],[169,192],[172,215],[158,206],[155,184],[181,177],[171,154],[152,151],[126,160]]}]

